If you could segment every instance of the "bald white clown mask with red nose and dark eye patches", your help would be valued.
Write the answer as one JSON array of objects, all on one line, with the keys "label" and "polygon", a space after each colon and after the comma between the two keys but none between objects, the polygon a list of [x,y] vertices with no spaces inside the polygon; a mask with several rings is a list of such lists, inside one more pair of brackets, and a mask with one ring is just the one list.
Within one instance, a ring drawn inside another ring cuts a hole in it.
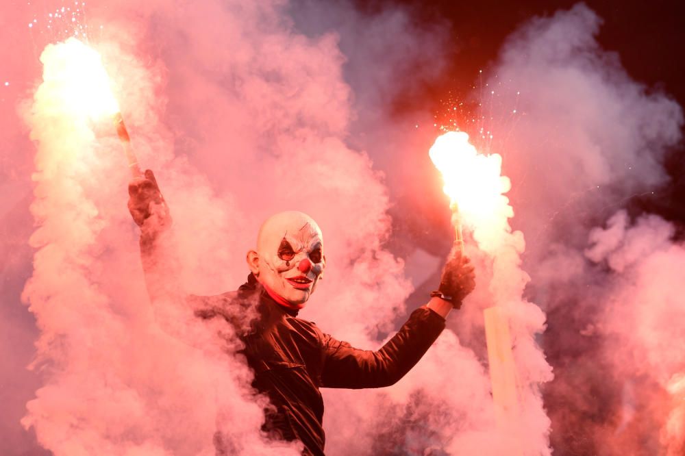
[{"label": "bald white clown mask with red nose and dark eye patches", "polygon": [[257,250],[247,253],[247,264],[276,301],[301,309],[326,264],[319,225],[302,212],[271,216],[260,228]]}]

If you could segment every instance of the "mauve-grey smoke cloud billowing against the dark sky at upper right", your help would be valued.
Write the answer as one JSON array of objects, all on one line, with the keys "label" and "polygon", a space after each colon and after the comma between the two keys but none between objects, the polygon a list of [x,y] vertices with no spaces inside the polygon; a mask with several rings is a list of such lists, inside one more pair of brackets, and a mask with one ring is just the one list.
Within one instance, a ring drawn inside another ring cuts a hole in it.
[{"label": "mauve-grey smoke cloud billowing against the dark sky at upper right", "polygon": [[529,238],[563,225],[566,240],[584,244],[586,224],[667,179],[662,159],[680,140],[680,106],[601,49],[600,25],[582,4],[536,18],[506,42],[490,79],[493,144],[506,154],[506,173],[519,177],[515,224]]}]

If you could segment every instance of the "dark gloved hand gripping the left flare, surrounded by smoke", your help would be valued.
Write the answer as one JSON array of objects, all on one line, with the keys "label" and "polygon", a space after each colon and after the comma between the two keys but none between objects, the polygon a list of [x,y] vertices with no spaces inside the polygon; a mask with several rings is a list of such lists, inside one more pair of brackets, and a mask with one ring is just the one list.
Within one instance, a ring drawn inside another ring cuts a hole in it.
[{"label": "dark gloved hand gripping the left flare, surrounded by smoke", "polygon": [[171,226],[169,208],[155,175],[149,169],[145,170],[145,177],[129,182],[128,209],[144,234],[155,235]]}]

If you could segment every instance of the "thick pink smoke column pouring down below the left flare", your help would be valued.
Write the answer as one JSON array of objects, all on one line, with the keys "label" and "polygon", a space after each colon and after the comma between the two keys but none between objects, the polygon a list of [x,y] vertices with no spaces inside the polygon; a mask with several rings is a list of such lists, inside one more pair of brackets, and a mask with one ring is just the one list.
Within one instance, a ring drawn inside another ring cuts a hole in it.
[{"label": "thick pink smoke column pouring down below the left flare", "polygon": [[[225,356],[225,344],[212,338],[216,329],[173,340],[141,305],[147,299],[136,280],[134,236],[120,192],[103,185],[121,183],[125,166],[116,140],[99,138],[103,129],[75,103],[75,90],[87,81],[62,76],[64,66],[75,64],[74,46],[68,41],[43,51],[43,82],[26,114],[37,147],[31,211],[39,227],[30,240],[37,251],[23,299],[41,330],[34,365],[50,373],[23,424],[55,454],[212,454],[215,430],[234,452],[283,454],[284,445],[266,444],[256,431],[264,400],[249,397],[247,366]],[[136,97],[151,97],[144,90],[149,73],[117,47],[102,52],[123,63],[110,71],[125,71],[140,84],[121,99],[142,106],[145,120],[158,125],[151,98]],[[153,131],[147,138],[163,141]],[[187,320],[175,310],[179,321]]]}]

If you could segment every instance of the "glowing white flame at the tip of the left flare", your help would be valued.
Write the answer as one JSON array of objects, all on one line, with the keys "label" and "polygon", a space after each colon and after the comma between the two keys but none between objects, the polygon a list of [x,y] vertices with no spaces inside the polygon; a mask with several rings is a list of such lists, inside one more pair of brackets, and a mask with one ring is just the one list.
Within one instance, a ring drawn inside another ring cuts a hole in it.
[{"label": "glowing white flame at the tip of the left flare", "polygon": [[97,119],[119,112],[100,54],[76,38],[48,45],[40,55],[44,85],[61,109]]}]

